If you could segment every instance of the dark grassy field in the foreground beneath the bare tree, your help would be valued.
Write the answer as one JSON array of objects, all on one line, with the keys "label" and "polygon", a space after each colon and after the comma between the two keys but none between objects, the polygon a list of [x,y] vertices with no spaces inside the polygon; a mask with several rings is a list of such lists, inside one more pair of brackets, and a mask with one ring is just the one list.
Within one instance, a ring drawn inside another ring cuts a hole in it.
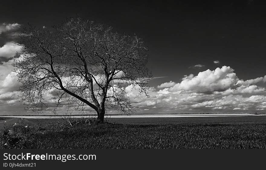
[{"label": "dark grassy field in the foreground beneath the bare tree", "polygon": [[265,149],[266,124],[21,121],[0,139],[1,149]]}]

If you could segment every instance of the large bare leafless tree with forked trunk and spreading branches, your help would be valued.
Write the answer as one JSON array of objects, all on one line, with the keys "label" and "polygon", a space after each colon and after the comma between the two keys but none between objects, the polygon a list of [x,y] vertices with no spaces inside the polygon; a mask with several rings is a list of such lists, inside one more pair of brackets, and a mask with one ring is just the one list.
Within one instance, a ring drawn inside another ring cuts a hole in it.
[{"label": "large bare leafless tree with forked trunk and spreading branches", "polygon": [[103,122],[106,108],[129,114],[135,111],[125,87],[147,94],[151,73],[146,68],[147,48],[138,36],[112,32],[111,27],[69,18],[40,30],[30,25],[20,35],[21,57],[14,66],[22,83],[21,98],[28,109],[42,110],[44,94],[53,91],[55,109],[87,106]]}]

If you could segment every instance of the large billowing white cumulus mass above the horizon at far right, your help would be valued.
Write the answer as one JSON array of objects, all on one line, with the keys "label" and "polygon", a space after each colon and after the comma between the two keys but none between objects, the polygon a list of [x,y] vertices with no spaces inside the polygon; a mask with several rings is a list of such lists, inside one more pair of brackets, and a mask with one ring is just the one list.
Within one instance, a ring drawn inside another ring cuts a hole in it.
[{"label": "large billowing white cumulus mass above the horizon at far right", "polygon": [[266,90],[255,85],[263,82],[265,77],[239,80],[232,68],[223,66],[213,71],[199,72],[196,76],[185,75],[180,83],[162,83],[158,88],[163,89],[157,93],[163,96],[157,98],[156,102],[175,112],[266,111]]}]

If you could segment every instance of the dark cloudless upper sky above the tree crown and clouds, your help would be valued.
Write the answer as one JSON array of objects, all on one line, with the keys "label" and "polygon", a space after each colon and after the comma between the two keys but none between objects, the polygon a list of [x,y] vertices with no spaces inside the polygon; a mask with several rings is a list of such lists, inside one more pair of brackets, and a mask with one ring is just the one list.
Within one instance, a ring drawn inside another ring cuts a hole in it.
[{"label": "dark cloudless upper sky above the tree crown and clouds", "polygon": [[199,72],[188,68],[192,65],[213,70],[214,60],[232,67],[244,80],[266,73],[266,12],[256,0],[9,1],[1,2],[0,23],[50,27],[76,14],[141,36],[150,49],[148,67],[154,77],[177,81]]}]

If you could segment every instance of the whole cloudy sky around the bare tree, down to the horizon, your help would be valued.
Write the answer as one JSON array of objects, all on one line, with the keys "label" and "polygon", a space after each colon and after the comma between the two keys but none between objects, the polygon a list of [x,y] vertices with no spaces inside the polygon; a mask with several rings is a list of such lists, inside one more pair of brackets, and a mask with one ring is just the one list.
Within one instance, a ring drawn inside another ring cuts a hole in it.
[{"label": "whole cloudy sky around the bare tree, down to the horizon", "polygon": [[0,115],[35,114],[18,102],[12,72],[19,31],[76,14],[145,41],[154,78],[149,98],[130,92],[137,113],[266,112],[262,1],[10,1],[0,7]]}]

